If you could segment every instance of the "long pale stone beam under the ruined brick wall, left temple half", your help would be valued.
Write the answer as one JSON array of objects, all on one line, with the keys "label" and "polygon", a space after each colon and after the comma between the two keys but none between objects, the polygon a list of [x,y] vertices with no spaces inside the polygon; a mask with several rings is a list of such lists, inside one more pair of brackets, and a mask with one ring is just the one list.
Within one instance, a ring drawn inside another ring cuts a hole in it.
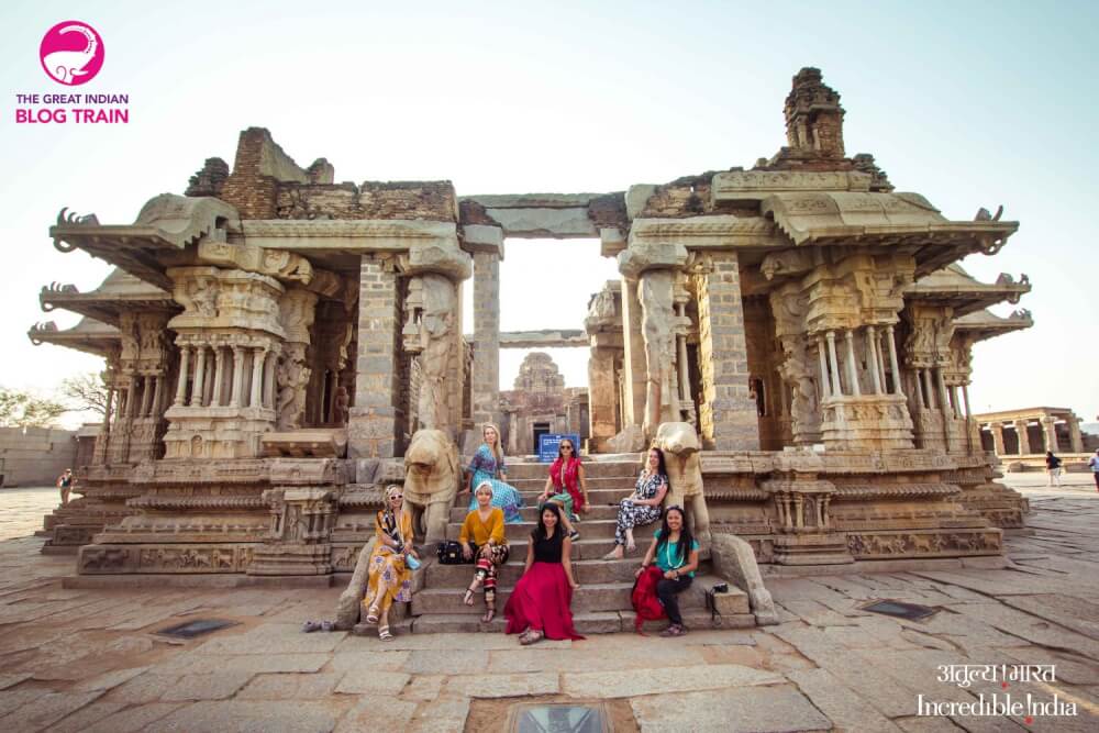
[{"label": "long pale stone beam under the ruined brick wall, left temple half", "polygon": [[417,243],[458,246],[453,222],[409,219],[248,219],[241,224],[245,242],[263,248],[309,253],[408,252]]}]

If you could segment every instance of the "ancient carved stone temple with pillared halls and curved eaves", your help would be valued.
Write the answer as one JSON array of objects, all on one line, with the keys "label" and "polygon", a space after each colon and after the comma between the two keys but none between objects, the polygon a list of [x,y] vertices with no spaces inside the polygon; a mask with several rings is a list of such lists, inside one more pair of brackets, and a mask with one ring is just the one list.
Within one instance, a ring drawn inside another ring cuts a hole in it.
[{"label": "ancient carved stone temple with pillared halls and curved eaves", "polygon": [[[996,254],[1018,223],[948,220],[848,156],[818,69],[793,78],[785,119],[788,145],[751,169],[468,197],[449,181],[336,184],[325,159],[301,167],[249,129],[231,168],[207,160],[132,224],[63,210],[54,245],[116,269],[91,292],[43,289],[45,310],[85,320],[30,336],[103,356],[111,401],[48,546],[78,549],[84,575],[328,578],[355,566],[395,481],[426,540],[456,532],[462,500],[443,517],[458,446],[507,404],[503,243],[550,237],[598,238],[621,273],[578,335],[602,481],[581,560],[606,552],[608,504],[636,470],[635,454],[599,454],[654,441],[707,536],[742,537],[766,573],[999,555],[1026,507],[996,482],[970,414],[970,353],[1031,324],[986,310],[1031,286],[957,262]],[[523,388],[545,389],[547,369],[532,359]],[[533,465],[510,476],[530,496],[545,480]],[[432,573],[413,612],[434,608]]]}]

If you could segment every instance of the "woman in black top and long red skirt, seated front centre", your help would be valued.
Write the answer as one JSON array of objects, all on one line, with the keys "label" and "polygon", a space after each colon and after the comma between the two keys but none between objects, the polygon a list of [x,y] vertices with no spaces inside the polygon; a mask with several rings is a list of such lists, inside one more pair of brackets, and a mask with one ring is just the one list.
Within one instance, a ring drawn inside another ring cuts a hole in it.
[{"label": "woman in black top and long red skirt, seated front centre", "polygon": [[546,504],[526,544],[523,577],[503,609],[508,633],[522,632],[520,644],[533,644],[543,637],[584,638],[576,633],[569,610],[573,591],[580,587],[573,579],[571,551],[573,541],[560,523],[560,509]]}]

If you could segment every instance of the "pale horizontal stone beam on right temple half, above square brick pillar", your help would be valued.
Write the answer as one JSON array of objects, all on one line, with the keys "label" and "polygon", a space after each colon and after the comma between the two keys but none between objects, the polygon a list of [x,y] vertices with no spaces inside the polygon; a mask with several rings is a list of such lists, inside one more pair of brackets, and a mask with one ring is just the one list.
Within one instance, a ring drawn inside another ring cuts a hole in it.
[{"label": "pale horizontal stone beam on right temple half, above square brick pillar", "polygon": [[634,219],[630,227],[630,246],[645,242],[680,244],[688,249],[789,246],[774,222],[762,216],[728,214]]}]

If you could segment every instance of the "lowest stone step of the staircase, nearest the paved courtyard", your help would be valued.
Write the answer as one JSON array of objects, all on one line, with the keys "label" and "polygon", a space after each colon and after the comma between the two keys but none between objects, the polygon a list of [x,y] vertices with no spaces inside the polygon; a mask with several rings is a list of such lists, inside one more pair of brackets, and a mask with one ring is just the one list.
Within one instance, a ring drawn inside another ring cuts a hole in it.
[{"label": "lowest stone step of the staircase, nearest the paved courtyard", "polygon": [[[484,613],[484,609],[481,609],[481,613]],[[706,629],[751,629],[755,626],[755,617],[751,613],[726,614],[713,620],[709,611],[684,610],[682,617],[687,629],[693,631],[703,631]],[[582,636],[633,632],[634,613],[632,610],[575,613],[573,614],[573,625],[576,626],[577,633]],[[645,621],[642,623],[642,630],[647,633],[658,633],[667,629],[667,620]],[[506,628],[507,621],[503,619],[502,613],[492,619],[490,623],[482,623],[479,614],[433,613],[418,617],[412,624],[412,633],[503,633]],[[519,645],[518,638],[515,640],[515,645]]]}]

